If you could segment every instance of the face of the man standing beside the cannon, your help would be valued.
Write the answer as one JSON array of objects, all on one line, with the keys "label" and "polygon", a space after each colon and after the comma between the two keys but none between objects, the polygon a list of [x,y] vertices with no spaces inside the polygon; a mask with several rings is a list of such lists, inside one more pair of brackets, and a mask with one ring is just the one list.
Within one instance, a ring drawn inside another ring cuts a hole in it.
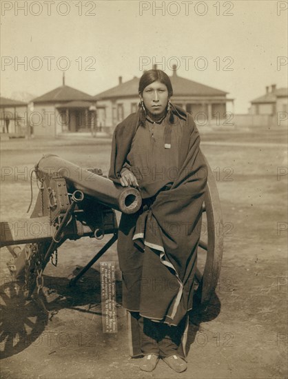
[{"label": "face of the man standing beside the cannon", "polygon": [[165,112],[169,100],[168,90],[165,84],[160,81],[154,81],[144,88],[141,100],[143,99],[144,105],[148,113],[158,116]]}]

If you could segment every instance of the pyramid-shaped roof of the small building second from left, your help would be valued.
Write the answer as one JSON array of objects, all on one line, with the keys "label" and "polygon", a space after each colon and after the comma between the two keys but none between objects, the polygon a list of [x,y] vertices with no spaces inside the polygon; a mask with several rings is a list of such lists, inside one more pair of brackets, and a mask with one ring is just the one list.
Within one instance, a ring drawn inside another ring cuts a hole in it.
[{"label": "pyramid-shaped roof of the small building second from left", "polygon": [[85,92],[69,87],[69,85],[61,85],[61,87],[43,94],[35,99],[33,103],[58,103],[59,101],[94,101],[93,96],[85,94]]}]

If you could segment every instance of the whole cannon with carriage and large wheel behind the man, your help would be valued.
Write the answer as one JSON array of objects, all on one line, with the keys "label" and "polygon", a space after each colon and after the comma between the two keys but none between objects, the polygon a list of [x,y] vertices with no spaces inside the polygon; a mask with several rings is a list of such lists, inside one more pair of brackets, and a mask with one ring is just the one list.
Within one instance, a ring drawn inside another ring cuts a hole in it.
[{"label": "whole cannon with carriage and large wheel behind the man", "polygon": [[[208,164],[207,167],[203,233],[196,270],[196,296],[202,304],[209,302],[216,288],[223,252],[220,201],[214,176]],[[99,168],[85,170],[49,154],[35,165],[34,173],[39,194],[30,218],[1,222],[0,246],[8,247],[12,254],[8,268],[27,299],[41,291],[43,270],[50,260],[56,265],[57,249],[65,240],[84,236],[102,239],[112,234],[94,258],[70,280],[70,285],[74,285],[117,240],[115,210],[132,214],[141,207],[138,189],[114,184]]]}]

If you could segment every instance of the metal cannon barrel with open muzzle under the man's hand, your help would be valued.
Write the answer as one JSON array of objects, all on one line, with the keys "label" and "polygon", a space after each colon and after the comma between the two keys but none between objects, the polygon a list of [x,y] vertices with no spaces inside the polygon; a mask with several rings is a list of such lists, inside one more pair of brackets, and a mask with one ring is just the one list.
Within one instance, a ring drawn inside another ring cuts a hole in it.
[{"label": "metal cannon barrel with open muzzle under the man's hand", "polygon": [[54,154],[43,156],[35,166],[37,178],[50,180],[61,176],[68,183],[68,190],[79,189],[83,194],[126,214],[132,214],[141,207],[142,198],[138,189],[121,187],[110,179],[85,170],[74,163]]}]

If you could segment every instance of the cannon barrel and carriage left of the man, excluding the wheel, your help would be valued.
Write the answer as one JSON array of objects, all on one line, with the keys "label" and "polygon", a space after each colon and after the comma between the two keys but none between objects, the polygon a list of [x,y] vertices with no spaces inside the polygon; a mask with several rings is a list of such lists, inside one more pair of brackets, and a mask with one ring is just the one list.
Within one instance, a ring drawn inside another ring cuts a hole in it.
[{"label": "cannon barrel and carriage left of the man, excluding the wheel", "polygon": [[114,209],[130,214],[141,207],[137,189],[115,185],[100,169],[85,170],[50,154],[41,158],[34,172],[39,194],[30,219],[1,222],[0,246],[7,246],[12,254],[8,268],[26,298],[31,298],[35,287],[39,294],[43,270],[65,240],[113,235],[73,284],[117,239]]}]

